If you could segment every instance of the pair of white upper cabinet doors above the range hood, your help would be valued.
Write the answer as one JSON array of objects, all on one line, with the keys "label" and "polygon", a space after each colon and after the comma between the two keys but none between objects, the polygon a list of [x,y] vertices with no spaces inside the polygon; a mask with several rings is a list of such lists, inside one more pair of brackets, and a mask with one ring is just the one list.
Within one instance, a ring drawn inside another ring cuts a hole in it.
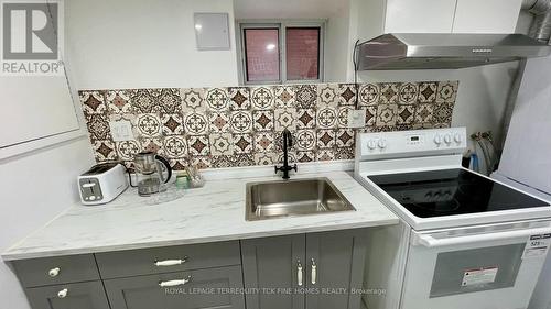
[{"label": "pair of white upper cabinet doors above the range hood", "polygon": [[385,33],[515,33],[522,3],[522,0],[383,1]]}]

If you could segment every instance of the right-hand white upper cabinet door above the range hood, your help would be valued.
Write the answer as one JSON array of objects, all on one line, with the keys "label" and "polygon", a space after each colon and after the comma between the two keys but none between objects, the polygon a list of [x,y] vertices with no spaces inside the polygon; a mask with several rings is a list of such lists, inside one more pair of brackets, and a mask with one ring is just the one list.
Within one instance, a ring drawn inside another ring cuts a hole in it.
[{"label": "right-hand white upper cabinet door above the range hood", "polygon": [[522,0],[458,0],[454,33],[515,33]]}]

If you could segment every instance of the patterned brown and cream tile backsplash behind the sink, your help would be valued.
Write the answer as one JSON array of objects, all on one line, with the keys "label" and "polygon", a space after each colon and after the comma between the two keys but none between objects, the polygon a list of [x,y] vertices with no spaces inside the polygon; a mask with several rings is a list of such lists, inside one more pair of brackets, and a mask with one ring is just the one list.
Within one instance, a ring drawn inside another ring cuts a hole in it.
[{"label": "patterned brown and cream tile backsplash behind the sink", "polygon": [[[359,85],[366,125],[348,129],[353,84],[229,88],[82,90],[97,162],[148,150],[175,169],[272,165],[281,162],[281,131],[294,139],[294,162],[354,158],[356,132],[450,126],[458,81]],[[109,121],[127,120],[133,139],[115,142]]]}]

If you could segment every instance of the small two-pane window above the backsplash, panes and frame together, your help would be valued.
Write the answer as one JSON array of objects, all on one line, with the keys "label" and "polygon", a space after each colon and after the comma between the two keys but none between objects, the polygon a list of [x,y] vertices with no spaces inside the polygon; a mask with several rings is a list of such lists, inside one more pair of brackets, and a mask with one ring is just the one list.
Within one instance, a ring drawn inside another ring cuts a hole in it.
[{"label": "small two-pane window above the backsplash, panes and frame together", "polygon": [[244,84],[322,81],[323,24],[240,23]]}]

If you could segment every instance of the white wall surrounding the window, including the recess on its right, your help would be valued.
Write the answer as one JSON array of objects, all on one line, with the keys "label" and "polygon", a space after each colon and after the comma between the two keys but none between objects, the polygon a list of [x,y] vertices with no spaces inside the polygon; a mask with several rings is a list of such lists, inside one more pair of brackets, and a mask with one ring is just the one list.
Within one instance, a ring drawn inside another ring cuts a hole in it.
[{"label": "white wall surrounding the window, including the recess on its right", "polygon": [[[327,19],[325,78],[346,81],[352,53],[349,1],[288,2],[252,5],[251,1],[236,1],[235,14],[239,19]],[[231,0],[163,0],[162,5],[150,0],[89,3],[65,2],[65,42],[79,89],[238,85]],[[196,51],[194,12],[229,13],[230,51]]]}]

